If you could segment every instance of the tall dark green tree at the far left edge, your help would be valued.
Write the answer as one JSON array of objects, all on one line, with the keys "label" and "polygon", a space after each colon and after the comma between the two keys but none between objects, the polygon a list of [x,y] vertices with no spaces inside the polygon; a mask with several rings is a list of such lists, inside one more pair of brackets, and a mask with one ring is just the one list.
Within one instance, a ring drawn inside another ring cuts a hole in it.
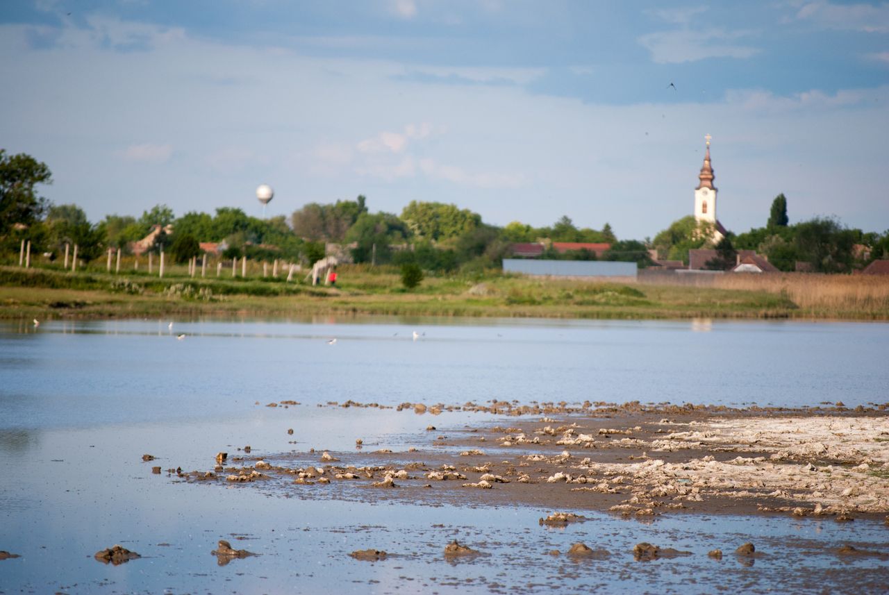
[{"label": "tall dark green tree at the far left edge", "polygon": [[47,202],[36,194],[38,184],[52,184],[45,163],[24,153],[6,156],[0,149],[0,237],[17,224],[31,226],[43,216]]}]

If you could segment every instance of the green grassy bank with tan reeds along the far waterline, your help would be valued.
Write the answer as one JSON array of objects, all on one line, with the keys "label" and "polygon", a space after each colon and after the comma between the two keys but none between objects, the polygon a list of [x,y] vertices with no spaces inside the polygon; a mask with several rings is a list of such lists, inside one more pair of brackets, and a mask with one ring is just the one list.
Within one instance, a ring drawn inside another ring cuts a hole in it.
[{"label": "green grassy bank with tan reeds along the far waterline", "polygon": [[586,319],[815,318],[889,320],[889,280],[848,276],[724,275],[701,282],[613,283],[490,273],[432,277],[404,290],[395,269],[340,266],[335,288],[240,277],[200,279],[173,269],[72,274],[0,267],[0,317],[393,314]]}]

